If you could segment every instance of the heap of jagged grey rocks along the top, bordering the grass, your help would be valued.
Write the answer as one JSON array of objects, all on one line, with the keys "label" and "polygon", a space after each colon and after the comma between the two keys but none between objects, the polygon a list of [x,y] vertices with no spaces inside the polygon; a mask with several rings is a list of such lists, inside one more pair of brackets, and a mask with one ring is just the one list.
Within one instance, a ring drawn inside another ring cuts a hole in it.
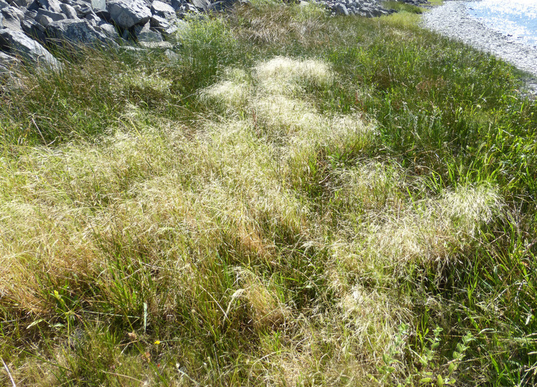
[{"label": "heap of jagged grey rocks along the top, bordering the grass", "polygon": [[[166,37],[186,23],[182,19],[187,13],[224,11],[236,1],[248,0],[0,0],[0,74],[20,60],[59,68],[46,47],[67,42],[170,48]],[[318,1],[335,14],[374,17],[393,12],[382,8],[380,0]]]}]

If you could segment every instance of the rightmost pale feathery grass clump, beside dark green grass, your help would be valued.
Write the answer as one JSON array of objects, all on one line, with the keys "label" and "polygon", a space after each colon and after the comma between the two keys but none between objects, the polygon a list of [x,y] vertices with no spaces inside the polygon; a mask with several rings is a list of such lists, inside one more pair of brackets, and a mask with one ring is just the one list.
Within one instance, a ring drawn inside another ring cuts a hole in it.
[{"label": "rightmost pale feathery grass clump, beside dark green grass", "polygon": [[370,224],[365,235],[368,250],[397,266],[447,262],[472,243],[479,227],[500,216],[502,206],[497,191],[488,186],[460,187],[441,198],[408,204],[398,214]]}]

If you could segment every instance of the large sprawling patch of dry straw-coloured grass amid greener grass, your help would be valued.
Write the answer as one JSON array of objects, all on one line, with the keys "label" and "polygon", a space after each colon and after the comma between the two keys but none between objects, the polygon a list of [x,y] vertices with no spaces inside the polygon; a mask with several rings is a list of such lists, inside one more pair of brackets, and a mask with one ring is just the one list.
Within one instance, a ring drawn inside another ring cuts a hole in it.
[{"label": "large sprawling patch of dry straw-coloured grass amid greener grass", "polygon": [[[261,341],[252,348],[252,374],[273,386],[311,382],[316,372],[330,383],[365,381],[413,317],[389,284],[410,263],[454,259],[500,216],[502,201],[485,185],[413,200],[402,167],[360,160],[325,167],[330,205],[318,214],[296,182],[312,175],[311,165],[329,165],[323,158],[377,141],[375,122],[313,106],[311,94],[335,78],[311,59],[228,69],[199,94],[209,108],[219,105],[219,119],[200,120],[195,130],[148,124],[131,107],[101,141],[34,148],[3,163],[2,296],[22,314],[46,317],[56,288],[76,293],[90,284],[98,296],[86,305],[129,315],[147,303],[152,318],[175,321],[181,303],[197,305],[200,289],[215,288],[221,274],[212,260],[227,248],[238,265],[234,288],[210,302],[218,304],[215,324],[246,307],[241,324]],[[330,217],[337,222],[325,222]],[[298,242],[282,248],[282,234]],[[296,310],[283,274],[259,269],[285,265],[295,248],[307,267],[321,265],[308,248],[328,251],[322,275],[335,294],[330,307]]]}]

